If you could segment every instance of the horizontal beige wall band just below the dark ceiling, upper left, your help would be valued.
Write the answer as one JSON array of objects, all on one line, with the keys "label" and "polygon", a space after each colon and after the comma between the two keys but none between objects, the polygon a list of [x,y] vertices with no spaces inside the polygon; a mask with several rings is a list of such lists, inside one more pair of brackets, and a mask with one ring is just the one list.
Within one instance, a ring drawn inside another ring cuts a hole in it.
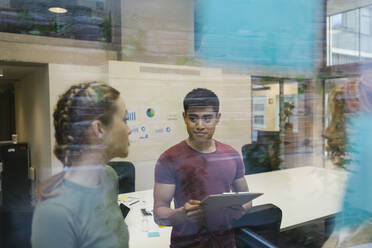
[{"label": "horizontal beige wall band just below the dark ceiling, upper left", "polygon": [[100,65],[116,59],[107,44],[0,32],[0,60],[12,62]]}]

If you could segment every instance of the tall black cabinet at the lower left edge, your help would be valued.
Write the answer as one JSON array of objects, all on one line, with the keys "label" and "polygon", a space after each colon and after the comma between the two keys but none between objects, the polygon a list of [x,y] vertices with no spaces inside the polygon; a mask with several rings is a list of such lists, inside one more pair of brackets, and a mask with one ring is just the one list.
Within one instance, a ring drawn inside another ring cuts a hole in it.
[{"label": "tall black cabinet at the lower left edge", "polygon": [[31,247],[30,149],[27,143],[0,147],[2,205],[0,247]]}]

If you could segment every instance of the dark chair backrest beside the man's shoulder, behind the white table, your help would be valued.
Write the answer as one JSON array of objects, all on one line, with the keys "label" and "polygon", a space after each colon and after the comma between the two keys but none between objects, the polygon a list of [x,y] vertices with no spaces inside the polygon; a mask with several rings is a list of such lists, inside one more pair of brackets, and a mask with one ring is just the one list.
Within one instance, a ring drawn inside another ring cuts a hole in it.
[{"label": "dark chair backrest beside the man's shoulder, behind the white table", "polygon": [[242,147],[246,175],[271,170],[268,146],[267,144],[246,144]]}]

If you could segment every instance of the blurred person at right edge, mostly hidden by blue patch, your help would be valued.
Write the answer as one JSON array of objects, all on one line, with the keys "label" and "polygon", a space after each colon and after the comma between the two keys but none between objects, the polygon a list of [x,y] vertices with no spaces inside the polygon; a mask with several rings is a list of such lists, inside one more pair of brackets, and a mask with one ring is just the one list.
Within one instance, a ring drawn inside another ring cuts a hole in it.
[{"label": "blurred person at right edge, mostly hidden by blue patch", "polygon": [[[323,248],[372,246],[372,81],[336,87],[330,96],[331,122],[325,130],[332,162],[349,172],[342,212]],[[345,145],[346,144],[346,145]]]}]

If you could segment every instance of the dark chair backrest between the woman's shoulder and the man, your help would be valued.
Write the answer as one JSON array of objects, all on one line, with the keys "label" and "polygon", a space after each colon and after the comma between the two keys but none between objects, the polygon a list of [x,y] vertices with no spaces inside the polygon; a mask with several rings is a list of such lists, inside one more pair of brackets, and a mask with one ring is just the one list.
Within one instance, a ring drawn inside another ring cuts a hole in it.
[{"label": "dark chair backrest between the woman's shoulder and the man", "polygon": [[108,163],[119,177],[119,194],[135,191],[136,172],[134,165],[128,161],[112,161]]}]

